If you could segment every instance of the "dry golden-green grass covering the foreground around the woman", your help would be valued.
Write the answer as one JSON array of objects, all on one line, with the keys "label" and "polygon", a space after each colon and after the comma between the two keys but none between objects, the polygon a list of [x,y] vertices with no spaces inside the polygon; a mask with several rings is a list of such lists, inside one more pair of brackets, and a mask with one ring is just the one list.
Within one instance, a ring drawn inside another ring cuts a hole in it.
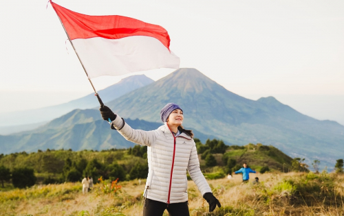
[{"label": "dry golden-green grass covering the foreground around the woman", "polygon": [[[344,215],[344,176],[328,173],[264,173],[259,184],[243,184],[241,175],[208,180],[222,207],[208,203],[189,181],[189,210],[197,215]],[[144,180],[119,182],[116,194],[102,184],[83,195],[80,183],[37,185],[0,191],[0,215],[142,215]],[[164,213],[168,215],[168,213]]]}]

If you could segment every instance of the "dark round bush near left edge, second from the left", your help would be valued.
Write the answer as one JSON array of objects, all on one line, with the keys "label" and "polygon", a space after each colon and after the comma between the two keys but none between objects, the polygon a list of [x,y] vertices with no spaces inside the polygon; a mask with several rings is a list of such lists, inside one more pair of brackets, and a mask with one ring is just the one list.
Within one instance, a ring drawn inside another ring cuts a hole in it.
[{"label": "dark round bush near left edge, second from the left", "polygon": [[14,187],[21,189],[31,187],[36,183],[36,180],[34,169],[24,167],[12,171],[12,184]]}]

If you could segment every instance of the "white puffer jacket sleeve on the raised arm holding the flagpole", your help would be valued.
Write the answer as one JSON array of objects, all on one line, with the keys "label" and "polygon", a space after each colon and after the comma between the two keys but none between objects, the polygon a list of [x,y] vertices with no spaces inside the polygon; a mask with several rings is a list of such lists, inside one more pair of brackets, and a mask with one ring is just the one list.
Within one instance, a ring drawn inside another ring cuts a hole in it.
[{"label": "white puffer jacket sleeve on the raised arm holding the flagpole", "polygon": [[127,140],[140,145],[151,146],[151,144],[158,137],[158,130],[135,130],[131,128],[122,118],[118,115],[114,121],[114,128]]}]

